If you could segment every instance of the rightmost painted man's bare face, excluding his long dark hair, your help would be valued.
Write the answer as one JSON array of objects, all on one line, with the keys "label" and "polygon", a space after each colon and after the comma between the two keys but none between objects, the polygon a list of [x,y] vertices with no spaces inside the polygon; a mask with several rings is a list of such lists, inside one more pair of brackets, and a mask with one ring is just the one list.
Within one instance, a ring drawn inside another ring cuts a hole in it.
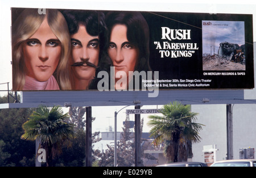
[{"label": "rightmost painted man's bare face, excluding his long dark hair", "polygon": [[[139,57],[139,50],[127,39],[127,27],[125,25],[116,24],[112,28],[108,54],[115,67],[115,74],[123,71],[126,76],[129,76],[129,71],[134,71]],[[118,78],[115,79],[118,80]]]}]

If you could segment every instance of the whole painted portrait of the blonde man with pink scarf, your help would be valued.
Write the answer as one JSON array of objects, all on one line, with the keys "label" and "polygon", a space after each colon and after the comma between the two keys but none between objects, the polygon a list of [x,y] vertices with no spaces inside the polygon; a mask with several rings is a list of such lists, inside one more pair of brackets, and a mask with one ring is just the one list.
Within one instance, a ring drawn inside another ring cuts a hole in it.
[{"label": "whole painted portrait of the blonde man with pink scarf", "polygon": [[71,42],[64,16],[56,9],[13,13],[13,90],[71,89]]}]

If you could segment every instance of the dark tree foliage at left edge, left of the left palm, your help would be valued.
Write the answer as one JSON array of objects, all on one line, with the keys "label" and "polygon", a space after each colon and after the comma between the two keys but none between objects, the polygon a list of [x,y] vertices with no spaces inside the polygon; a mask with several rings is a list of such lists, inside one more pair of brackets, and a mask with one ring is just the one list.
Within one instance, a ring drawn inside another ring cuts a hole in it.
[{"label": "dark tree foliage at left edge, left of the left palm", "polygon": [[[0,97],[7,103],[7,96]],[[14,102],[10,98],[10,102]],[[0,167],[34,166],[35,143],[20,139],[22,124],[34,111],[31,108],[0,109]]]}]

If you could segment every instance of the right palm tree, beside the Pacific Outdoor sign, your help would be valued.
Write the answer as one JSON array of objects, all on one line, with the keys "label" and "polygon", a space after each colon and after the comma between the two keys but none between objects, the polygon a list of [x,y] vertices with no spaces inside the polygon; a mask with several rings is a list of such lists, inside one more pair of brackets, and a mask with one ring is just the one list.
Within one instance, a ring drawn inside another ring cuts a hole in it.
[{"label": "right palm tree, beside the Pacific Outdoor sign", "polygon": [[154,138],[152,144],[165,144],[164,155],[169,162],[187,160],[188,152],[192,155],[191,143],[201,140],[199,131],[203,125],[194,122],[198,113],[191,112],[190,105],[180,102],[164,105],[161,113],[163,116],[149,116],[148,125]]}]

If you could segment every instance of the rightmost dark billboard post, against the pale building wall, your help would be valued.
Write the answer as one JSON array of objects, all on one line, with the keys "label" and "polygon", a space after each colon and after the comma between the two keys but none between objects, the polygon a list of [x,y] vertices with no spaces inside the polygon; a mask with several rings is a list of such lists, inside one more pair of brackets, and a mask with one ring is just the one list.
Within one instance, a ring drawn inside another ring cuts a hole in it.
[{"label": "rightmost dark billboard post, against the pale building wall", "polygon": [[233,113],[232,105],[226,105],[226,144],[227,159],[233,159]]}]

